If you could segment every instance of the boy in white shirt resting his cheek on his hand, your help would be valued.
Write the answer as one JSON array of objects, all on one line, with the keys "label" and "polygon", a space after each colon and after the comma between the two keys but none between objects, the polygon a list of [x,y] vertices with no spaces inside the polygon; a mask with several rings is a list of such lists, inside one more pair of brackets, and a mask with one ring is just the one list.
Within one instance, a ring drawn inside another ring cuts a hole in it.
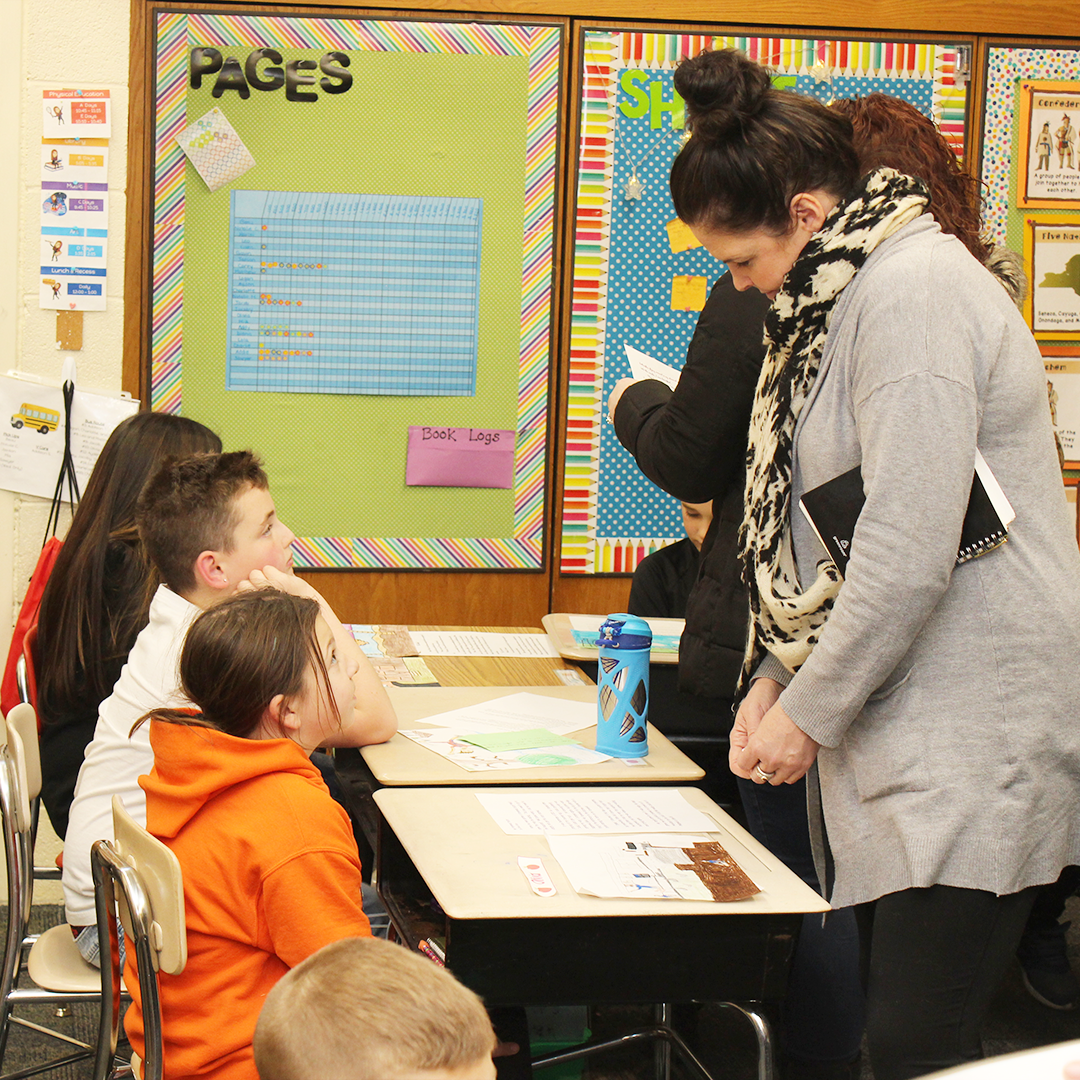
[{"label": "boy in white shirt resting his cheek on his hand", "polygon": [[146,725],[134,733],[132,726],[153,708],[186,704],[176,694],[176,662],[200,610],[220,603],[252,577],[316,600],[339,653],[355,664],[356,723],[332,732],[325,744],[383,742],[396,729],[386,691],[355,642],[319,593],[293,576],[293,534],[278,519],[267,475],[253,454],[201,454],[167,463],[143,492],[138,527],[164,584],[112,694],[102,702],[64,846],[67,920],[79,930],[80,951],[92,963],[97,963],[97,928],[90,849],[112,835],[113,795],[136,821],[145,822],[138,778],[150,771],[153,751]]}]

